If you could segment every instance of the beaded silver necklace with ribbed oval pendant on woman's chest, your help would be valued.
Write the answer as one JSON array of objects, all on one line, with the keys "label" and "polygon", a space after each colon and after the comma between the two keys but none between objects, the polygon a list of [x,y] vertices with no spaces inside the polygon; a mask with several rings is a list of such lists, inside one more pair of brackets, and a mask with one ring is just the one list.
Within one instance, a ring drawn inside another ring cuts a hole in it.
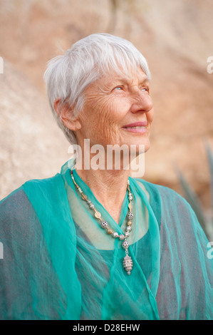
[{"label": "beaded silver necklace with ribbed oval pendant on woman's chest", "polygon": [[[73,168],[74,168],[74,166],[73,166]],[[71,177],[72,177],[73,183],[74,183],[74,185],[76,185],[76,188],[77,188],[78,192],[80,193],[82,199],[85,200],[88,203],[90,209],[93,210],[95,218],[98,220],[98,222],[100,224],[100,227],[102,229],[104,229],[108,235],[111,235],[113,238],[118,238],[118,239],[120,239],[120,241],[123,241],[122,247],[123,247],[123,249],[125,249],[125,257],[123,259],[123,267],[124,267],[125,271],[128,274],[130,274],[132,269],[133,269],[133,259],[129,256],[129,253],[128,253],[129,244],[128,244],[127,239],[130,236],[130,232],[132,230],[131,226],[132,226],[132,220],[133,220],[134,215],[133,215],[133,212],[132,212],[133,195],[130,192],[130,182],[129,182],[129,180],[128,180],[128,186],[127,186],[128,200],[129,200],[128,214],[127,214],[127,217],[128,217],[127,227],[126,227],[126,230],[125,230],[125,234],[118,234],[118,232],[113,232],[113,230],[109,227],[108,222],[104,221],[102,219],[101,214],[100,214],[100,212],[98,212],[98,210],[96,210],[95,205],[93,205],[93,203],[90,202],[90,200],[88,200],[88,197],[83,193],[81,188],[78,186],[78,184],[76,183],[76,180],[73,176],[73,168],[71,170]]]}]

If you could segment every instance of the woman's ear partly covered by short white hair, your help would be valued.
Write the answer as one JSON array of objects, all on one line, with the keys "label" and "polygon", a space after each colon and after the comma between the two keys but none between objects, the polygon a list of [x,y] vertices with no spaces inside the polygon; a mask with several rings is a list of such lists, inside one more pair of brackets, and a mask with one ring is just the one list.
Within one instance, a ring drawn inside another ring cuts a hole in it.
[{"label": "woman's ear partly covered by short white hair", "polygon": [[75,131],[81,128],[79,118],[72,118],[73,108],[71,108],[68,101],[61,102],[61,98],[56,98],[54,109],[58,114],[58,118],[61,118],[61,121],[68,129]]}]

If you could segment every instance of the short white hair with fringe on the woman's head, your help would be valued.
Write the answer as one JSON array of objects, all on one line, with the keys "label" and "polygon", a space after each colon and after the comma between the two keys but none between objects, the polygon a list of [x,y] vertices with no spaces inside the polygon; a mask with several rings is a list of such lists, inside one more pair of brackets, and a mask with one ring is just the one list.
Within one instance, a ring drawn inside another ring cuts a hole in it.
[{"label": "short white hair with fringe on the woman's head", "polygon": [[83,108],[85,88],[108,71],[130,71],[142,68],[150,79],[147,61],[130,41],[108,33],[93,33],[80,39],[63,55],[48,62],[44,73],[46,91],[51,110],[59,127],[71,144],[76,144],[72,130],[63,125],[61,115],[54,110],[54,101],[68,103],[75,118]]}]

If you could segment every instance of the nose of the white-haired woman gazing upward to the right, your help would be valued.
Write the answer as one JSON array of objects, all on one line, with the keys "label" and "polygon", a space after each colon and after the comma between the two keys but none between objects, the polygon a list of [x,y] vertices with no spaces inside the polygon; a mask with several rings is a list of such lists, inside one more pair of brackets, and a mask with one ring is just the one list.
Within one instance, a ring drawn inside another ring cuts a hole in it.
[{"label": "nose of the white-haired woman gazing upward to the right", "polygon": [[131,105],[132,113],[148,113],[152,108],[152,99],[147,91],[142,91],[134,95]]}]

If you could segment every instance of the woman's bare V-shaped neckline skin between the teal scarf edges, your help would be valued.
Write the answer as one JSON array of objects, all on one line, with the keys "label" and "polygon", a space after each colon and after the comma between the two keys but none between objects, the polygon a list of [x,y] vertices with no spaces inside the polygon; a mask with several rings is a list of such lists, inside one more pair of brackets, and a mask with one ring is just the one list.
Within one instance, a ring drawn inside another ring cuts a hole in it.
[{"label": "woman's bare V-shaped neckline skin between the teal scarf edges", "polygon": [[76,167],[76,172],[115,222],[119,223],[130,170],[78,170]]}]

